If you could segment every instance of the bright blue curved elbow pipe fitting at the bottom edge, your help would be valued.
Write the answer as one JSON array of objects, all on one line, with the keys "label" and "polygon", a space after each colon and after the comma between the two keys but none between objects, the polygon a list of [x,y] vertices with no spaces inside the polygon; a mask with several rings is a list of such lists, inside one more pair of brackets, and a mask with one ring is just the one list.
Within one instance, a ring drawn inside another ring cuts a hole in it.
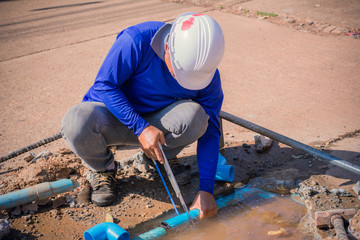
[{"label": "bright blue curved elbow pipe fitting at the bottom edge", "polygon": [[84,232],[85,240],[130,240],[130,234],[119,225],[103,222]]}]

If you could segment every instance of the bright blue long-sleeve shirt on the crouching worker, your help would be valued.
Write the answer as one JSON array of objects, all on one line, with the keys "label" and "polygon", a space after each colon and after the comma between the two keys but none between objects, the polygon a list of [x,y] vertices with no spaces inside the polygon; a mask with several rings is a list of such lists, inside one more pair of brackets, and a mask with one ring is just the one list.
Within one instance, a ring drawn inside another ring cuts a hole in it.
[{"label": "bright blue long-sleeve shirt on the crouching worker", "polygon": [[163,24],[145,22],[120,32],[83,101],[103,102],[137,136],[149,124],[142,114],[158,111],[179,99],[199,103],[210,117],[205,134],[198,139],[199,190],[213,193],[223,101],[220,74],[217,70],[209,86],[202,90],[181,87],[150,46]]}]

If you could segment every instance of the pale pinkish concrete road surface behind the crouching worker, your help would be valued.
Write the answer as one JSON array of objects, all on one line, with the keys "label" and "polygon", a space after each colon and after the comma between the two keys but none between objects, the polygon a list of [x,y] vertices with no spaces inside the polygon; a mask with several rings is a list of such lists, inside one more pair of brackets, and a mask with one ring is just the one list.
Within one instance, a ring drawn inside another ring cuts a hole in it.
[{"label": "pale pinkish concrete road surface behind the crouching worker", "polygon": [[[186,11],[206,12],[224,30],[223,110],[307,144],[360,129],[358,40],[158,0],[2,1],[0,155],[59,132],[119,31]],[[254,135],[230,123],[224,131]]]}]

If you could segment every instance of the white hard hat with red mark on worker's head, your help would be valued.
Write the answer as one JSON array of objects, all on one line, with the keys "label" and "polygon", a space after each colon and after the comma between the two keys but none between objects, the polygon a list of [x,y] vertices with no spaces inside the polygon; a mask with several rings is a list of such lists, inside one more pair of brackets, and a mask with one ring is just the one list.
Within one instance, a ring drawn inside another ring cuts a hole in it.
[{"label": "white hard hat with red mark on worker's head", "polygon": [[[159,41],[156,38],[167,39],[177,82],[191,90],[207,87],[224,55],[224,35],[219,24],[204,14],[184,13],[176,18],[171,29],[169,24],[162,29],[153,38],[151,46],[155,50],[153,45]],[[162,47],[163,44],[164,40]],[[155,52],[163,58],[164,50]]]}]

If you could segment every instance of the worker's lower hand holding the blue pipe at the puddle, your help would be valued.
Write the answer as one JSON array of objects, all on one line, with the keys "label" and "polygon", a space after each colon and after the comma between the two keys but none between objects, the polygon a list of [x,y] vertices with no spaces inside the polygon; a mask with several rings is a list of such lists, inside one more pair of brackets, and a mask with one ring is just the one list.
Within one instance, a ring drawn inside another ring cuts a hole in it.
[{"label": "worker's lower hand holding the blue pipe at the puddle", "polygon": [[205,191],[199,191],[196,195],[190,210],[195,208],[200,210],[200,219],[212,217],[218,210],[214,196]]}]

